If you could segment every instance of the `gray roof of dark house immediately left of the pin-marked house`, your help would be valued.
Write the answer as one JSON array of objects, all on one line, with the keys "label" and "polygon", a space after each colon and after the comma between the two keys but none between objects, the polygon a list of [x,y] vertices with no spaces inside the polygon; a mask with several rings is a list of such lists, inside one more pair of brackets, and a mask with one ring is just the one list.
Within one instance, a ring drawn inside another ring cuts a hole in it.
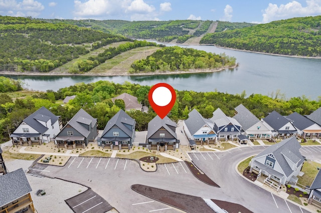
[{"label": "gray roof of dark house immediately left of the pin-marked house", "polygon": [[131,118],[124,110],[120,109],[106,124],[101,137],[107,133],[114,125],[123,130],[130,138],[133,136],[131,129],[127,128],[124,123],[135,126],[135,120]]}]

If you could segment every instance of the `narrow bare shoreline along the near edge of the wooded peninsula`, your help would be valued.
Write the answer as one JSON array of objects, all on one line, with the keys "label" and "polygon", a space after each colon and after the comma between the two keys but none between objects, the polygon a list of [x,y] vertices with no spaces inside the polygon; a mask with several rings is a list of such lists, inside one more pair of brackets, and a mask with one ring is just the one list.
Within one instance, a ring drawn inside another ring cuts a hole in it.
[{"label": "narrow bare shoreline along the near edge of the wooded peninsula", "polygon": [[217,72],[225,69],[234,69],[238,67],[238,63],[233,66],[224,66],[216,69],[189,69],[188,71],[155,71],[155,72],[142,72],[142,73],[128,73],[127,71],[121,73],[81,73],[81,74],[71,74],[68,72],[14,72],[14,71],[0,71],[0,75],[26,75],[26,76],[142,76],[142,75],[166,75],[166,74],[193,74],[193,73],[208,73]]}]

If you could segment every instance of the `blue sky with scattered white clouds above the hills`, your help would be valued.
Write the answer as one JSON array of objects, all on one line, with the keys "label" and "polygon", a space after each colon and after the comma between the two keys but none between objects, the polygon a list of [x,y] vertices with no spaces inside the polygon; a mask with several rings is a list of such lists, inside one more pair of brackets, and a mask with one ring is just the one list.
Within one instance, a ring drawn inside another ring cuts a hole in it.
[{"label": "blue sky with scattered white clouds above the hills", "polygon": [[0,0],[0,15],[268,23],[321,14],[321,0]]}]

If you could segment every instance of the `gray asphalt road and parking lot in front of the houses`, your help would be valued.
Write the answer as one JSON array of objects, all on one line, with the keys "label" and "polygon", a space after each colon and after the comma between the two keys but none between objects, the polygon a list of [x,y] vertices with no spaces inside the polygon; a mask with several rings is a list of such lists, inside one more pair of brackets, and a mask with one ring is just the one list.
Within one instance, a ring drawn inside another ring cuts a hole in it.
[{"label": "gray asphalt road and parking lot in front of the houses", "polygon": [[[189,153],[194,163],[220,188],[196,179],[187,165],[180,162],[157,165],[157,171],[145,172],[135,160],[71,157],[65,166],[49,165],[41,174],[91,187],[119,212],[181,212],[134,192],[130,189],[132,184],[145,184],[202,198],[235,202],[253,212],[309,212],[304,207],[249,182],[237,173],[235,167],[239,161],[259,153],[265,147],[267,146],[249,146],[229,151]],[[318,147],[303,147],[302,152],[311,159],[321,158],[321,148]]]}]

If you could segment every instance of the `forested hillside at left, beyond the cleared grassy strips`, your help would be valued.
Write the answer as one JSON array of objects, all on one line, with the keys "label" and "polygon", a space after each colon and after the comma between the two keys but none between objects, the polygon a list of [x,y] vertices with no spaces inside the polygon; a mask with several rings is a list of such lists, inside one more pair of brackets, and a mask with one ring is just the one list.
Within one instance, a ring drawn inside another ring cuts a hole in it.
[{"label": "forested hillside at left, beyond the cleared grassy strips", "polygon": [[48,72],[88,53],[93,42],[123,40],[131,39],[71,24],[0,16],[0,71]]}]

